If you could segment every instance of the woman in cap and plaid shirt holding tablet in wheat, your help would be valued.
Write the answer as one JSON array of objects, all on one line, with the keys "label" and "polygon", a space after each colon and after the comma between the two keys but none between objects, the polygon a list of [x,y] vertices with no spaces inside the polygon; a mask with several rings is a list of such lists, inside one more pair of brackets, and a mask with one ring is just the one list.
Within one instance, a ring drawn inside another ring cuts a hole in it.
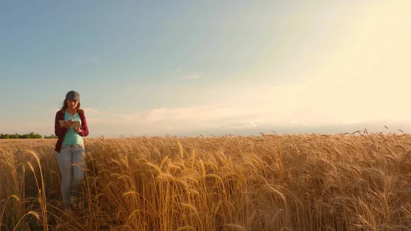
[{"label": "woman in cap and plaid shirt holding tablet in wheat", "polygon": [[[60,125],[60,121],[64,123]],[[73,127],[74,121],[79,121],[80,127]],[[64,207],[72,210],[77,207],[79,191],[84,180],[83,136],[88,136],[84,110],[80,109],[80,95],[74,90],[66,94],[62,109],[55,114],[54,133],[58,136],[55,151],[62,173]]]}]

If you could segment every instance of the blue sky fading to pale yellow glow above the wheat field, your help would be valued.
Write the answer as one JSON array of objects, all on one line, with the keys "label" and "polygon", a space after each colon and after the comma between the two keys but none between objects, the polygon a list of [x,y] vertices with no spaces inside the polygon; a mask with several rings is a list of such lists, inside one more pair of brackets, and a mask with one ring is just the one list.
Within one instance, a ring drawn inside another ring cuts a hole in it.
[{"label": "blue sky fading to pale yellow glow above the wheat field", "polygon": [[[0,1],[0,133],[411,132],[409,0]],[[388,130],[386,127],[388,127]]]}]

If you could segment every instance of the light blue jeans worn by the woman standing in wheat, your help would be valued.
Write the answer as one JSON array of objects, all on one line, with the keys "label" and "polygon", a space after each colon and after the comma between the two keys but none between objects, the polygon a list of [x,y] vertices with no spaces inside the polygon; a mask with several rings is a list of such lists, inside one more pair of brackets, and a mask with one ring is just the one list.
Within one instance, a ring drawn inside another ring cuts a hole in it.
[{"label": "light blue jeans worn by the woman standing in wheat", "polygon": [[84,145],[62,145],[57,162],[62,173],[64,205],[69,205],[70,196],[79,195],[84,181]]}]

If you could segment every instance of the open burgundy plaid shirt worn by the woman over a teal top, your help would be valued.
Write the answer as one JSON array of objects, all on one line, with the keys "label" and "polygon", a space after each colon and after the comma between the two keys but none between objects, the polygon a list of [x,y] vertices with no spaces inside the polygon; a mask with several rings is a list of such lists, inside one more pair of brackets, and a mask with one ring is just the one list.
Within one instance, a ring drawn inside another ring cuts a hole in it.
[{"label": "open burgundy plaid shirt worn by the woman over a teal top", "polygon": [[[84,110],[79,111],[79,117],[82,120],[82,126],[80,127],[81,131],[79,132],[79,135],[88,136],[88,127],[86,116],[84,115]],[[69,130],[66,127],[61,127],[59,121],[64,121],[64,110],[59,110],[57,113],[55,113],[54,134],[58,136],[58,139],[57,143],[55,144],[54,150],[57,152],[60,152],[64,136],[66,135],[67,130]]]}]

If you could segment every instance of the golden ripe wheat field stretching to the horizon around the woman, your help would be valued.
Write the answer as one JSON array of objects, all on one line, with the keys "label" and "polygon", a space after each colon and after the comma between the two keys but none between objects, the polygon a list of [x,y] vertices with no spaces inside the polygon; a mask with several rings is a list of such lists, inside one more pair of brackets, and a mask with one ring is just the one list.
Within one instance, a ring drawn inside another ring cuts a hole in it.
[{"label": "golden ripe wheat field stretching to the horizon around the woman", "polygon": [[411,230],[411,135],[86,138],[79,209],[55,140],[0,141],[0,230]]}]

